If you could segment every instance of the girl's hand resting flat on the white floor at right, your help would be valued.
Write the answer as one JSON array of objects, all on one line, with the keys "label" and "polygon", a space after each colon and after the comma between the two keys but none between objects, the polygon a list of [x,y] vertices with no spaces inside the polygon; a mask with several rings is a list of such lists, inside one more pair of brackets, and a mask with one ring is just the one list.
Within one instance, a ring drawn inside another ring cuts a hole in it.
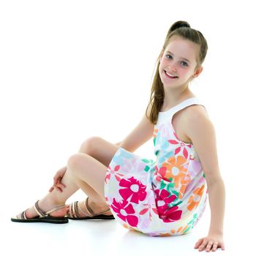
[{"label": "girl's hand resting flat on the white floor at right", "polygon": [[221,247],[222,250],[225,250],[222,234],[209,233],[208,236],[200,238],[196,242],[194,248],[198,248],[199,252],[203,251],[204,249],[206,249],[206,252],[215,252],[218,247]]}]

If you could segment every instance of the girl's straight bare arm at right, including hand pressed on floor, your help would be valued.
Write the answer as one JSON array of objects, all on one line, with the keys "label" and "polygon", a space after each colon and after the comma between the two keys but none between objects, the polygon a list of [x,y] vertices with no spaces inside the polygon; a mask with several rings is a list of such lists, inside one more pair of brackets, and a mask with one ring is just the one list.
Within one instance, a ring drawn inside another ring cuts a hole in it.
[{"label": "girl's straight bare arm at right, including hand pressed on floor", "polygon": [[225,185],[219,172],[214,126],[205,113],[196,109],[189,111],[186,122],[186,134],[195,146],[206,176],[211,208],[208,236],[197,241],[195,248],[200,251],[203,249],[215,251],[217,247],[225,249],[223,242]]}]

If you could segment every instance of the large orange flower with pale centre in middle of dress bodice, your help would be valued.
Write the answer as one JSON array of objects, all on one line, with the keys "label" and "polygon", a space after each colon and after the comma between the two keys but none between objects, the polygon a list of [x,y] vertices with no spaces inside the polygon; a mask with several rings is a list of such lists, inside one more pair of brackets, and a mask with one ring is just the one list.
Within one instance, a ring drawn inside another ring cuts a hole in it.
[{"label": "large orange flower with pale centre in middle of dress bodice", "polygon": [[[175,183],[175,187],[178,188],[180,184],[183,184],[184,178],[187,174],[187,167],[184,164],[187,163],[187,159],[182,156],[170,157],[167,162],[162,164],[162,167],[166,167],[165,178],[170,180],[173,178],[172,182]],[[187,184],[187,182],[186,182]]]}]

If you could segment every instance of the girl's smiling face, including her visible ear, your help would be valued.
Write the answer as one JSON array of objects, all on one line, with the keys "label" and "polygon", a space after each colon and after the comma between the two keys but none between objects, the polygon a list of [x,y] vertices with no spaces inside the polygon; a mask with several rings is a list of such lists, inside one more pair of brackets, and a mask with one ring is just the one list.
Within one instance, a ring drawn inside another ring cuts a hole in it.
[{"label": "girl's smiling face, including her visible ear", "polygon": [[197,67],[200,45],[183,37],[173,36],[159,58],[159,75],[162,83],[169,87],[188,84],[196,78],[203,67]]}]

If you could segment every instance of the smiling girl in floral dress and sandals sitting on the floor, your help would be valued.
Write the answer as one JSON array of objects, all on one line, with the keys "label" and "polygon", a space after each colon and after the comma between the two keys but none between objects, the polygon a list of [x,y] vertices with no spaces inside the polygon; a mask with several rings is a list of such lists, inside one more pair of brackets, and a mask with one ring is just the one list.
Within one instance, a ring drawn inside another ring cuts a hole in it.
[{"label": "smiling girl in floral dress and sandals sitting on the floor", "polygon": [[[177,21],[157,59],[146,113],[121,143],[86,140],[54,176],[49,193],[14,222],[67,223],[68,219],[116,219],[149,236],[189,233],[206,207],[211,224],[195,249],[225,249],[225,186],[219,173],[214,127],[189,90],[203,70],[208,45],[200,31]],[[153,136],[156,159],[132,152]],[[78,189],[83,202],[65,206]]]}]

